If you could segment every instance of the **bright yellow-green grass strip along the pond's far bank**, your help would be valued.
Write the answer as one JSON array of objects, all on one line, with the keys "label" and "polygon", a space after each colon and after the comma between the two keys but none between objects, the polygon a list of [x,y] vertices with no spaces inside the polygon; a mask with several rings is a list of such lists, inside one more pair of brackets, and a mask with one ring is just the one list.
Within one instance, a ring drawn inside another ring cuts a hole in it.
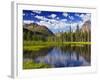
[{"label": "bright yellow-green grass strip along the pond's far bank", "polygon": [[48,48],[52,46],[82,46],[86,44],[91,44],[91,42],[38,42],[38,41],[24,41],[23,49],[27,51],[39,51],[43,48]]}]

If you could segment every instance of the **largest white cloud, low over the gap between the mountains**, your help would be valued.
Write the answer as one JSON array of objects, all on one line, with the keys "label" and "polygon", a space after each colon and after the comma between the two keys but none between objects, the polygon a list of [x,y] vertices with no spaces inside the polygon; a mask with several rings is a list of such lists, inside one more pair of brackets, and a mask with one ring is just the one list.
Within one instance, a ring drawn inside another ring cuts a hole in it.
[{"label": "largest white cloud, low over the gap between the mountains", "polygon": [[48,19],[48,21],[40,21],[39,25],[45,25],[52,31],[66,31],[70,24],[61,20]]}]

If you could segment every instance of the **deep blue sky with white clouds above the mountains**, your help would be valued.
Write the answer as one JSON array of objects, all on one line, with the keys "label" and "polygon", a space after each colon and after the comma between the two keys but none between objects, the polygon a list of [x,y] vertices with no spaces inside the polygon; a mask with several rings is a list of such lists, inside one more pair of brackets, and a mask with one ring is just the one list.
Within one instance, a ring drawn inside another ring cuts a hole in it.
[{"label": "deep blue sky with white clouds above the mountains", "polygon": [[91,20],[90,13],[23,10],[23,23],[45,25],[54,33],[69,31],[70,26],[74,31],[88,20]]}]

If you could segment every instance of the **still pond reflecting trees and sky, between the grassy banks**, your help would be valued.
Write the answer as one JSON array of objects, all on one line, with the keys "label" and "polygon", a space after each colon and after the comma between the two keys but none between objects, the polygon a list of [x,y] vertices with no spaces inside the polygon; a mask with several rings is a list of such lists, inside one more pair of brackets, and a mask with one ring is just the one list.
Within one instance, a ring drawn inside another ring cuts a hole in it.
[{"label": "still pond reflecting trees and sky, between the grassy banks", "polygon": [[45,63],[51,68],[91,65],[91,45],[53,46],[39,51],[24,51],[24,61]]}]

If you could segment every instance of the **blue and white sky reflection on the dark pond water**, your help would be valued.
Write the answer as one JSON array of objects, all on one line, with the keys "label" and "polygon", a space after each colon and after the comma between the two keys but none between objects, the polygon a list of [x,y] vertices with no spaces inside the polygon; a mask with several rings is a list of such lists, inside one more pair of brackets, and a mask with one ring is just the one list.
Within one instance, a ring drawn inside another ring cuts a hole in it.
[{"label": "blue and white sky reflection on the dark pond water", "polygon": [[36,62],[44,62],[52,67],[86,66],[89,63],[77,53],[64,53],[59,48],[53,48],[46,56],[37,57]]}]

